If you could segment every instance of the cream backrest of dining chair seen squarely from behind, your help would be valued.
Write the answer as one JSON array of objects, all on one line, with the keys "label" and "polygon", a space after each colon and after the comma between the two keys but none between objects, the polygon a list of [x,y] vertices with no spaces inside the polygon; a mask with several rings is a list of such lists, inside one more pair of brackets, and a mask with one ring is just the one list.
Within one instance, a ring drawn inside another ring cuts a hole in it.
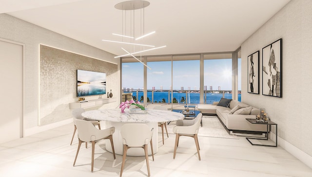
[{"label": "cream backrest of dining chair seen squarely from behind", "polygon": [[150,143],[153,129],[146,124],[129,123],[121,127],[120,134],[123,145],[141,147]]}]

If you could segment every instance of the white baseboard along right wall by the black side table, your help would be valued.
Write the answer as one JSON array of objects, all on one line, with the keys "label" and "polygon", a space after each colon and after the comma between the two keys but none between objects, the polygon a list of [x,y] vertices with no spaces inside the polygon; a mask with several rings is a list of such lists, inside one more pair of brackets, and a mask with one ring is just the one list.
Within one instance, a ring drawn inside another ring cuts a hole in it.
[{"label": "white baseboard along right wall by the black side table", "polygon": [[[275,142],[275,137],[276,135],[273,132],[269,133],[270,135],[270,139],[273,140]],[[277,137],[278,141],[277,144],[279,146],[281,146],[283,149],[285,149],[287,152],[291,153],[294,157],[296,157],[297,159],[299,159],[300,161],[302,161],[304,164],[306,164],[307,166],[309,166],[310,168],[312,168],[312,156],[310,156],[309,154],[303,152],[302,150],[300,150],[299,148],[297,148],[296,146],[288,143],[287,141],[285,141],[284,139],[282,139],[281,137]]]}]

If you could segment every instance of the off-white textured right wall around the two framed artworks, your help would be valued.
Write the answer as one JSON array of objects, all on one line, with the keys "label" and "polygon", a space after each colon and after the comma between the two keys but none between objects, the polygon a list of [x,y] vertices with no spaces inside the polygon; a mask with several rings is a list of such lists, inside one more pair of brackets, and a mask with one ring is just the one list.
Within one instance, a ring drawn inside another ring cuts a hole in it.
[{"label": "off-white textured right wall around the two framed artworks", "polygon": [[[268,4],[270,5],[270,4]],[[278,136],[312,156],[312,0],[292,0],[242,45],[242,102],[265,108]],[[282,38],[282,98],[247,93],[247,56]]]}]

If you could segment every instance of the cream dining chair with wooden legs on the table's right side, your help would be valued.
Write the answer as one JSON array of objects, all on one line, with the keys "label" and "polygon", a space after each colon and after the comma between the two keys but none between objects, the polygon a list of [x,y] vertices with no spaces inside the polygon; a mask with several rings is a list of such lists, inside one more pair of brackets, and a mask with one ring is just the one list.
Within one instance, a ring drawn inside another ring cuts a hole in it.
[{"label": "cream dining chair with wooden legs on the table's right side", "polygon": [[175,143],[175,150],[174,150],[174,159],[176,159],[176,148],[179,145],[179,138],[180,136],[189,136],[195,139],[195,145],[197,148],[198,159],[200,161],[200,154],[199,154],[199,143],[198,143],[198,130],[200,127],[202,113],[198,113],[195,119],[192,120],[177,120],[176,127],[173,128],[173,132],[176,133],[176,143]]}]

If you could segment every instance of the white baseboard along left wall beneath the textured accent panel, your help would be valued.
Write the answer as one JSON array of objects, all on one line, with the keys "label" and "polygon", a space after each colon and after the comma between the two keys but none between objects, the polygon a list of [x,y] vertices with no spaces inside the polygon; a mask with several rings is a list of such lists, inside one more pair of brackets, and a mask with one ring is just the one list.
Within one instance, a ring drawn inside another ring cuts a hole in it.
[{"label": "white baseboard along left wall beneath the textured accent panel", "polygon": [[30,129],[25,129],[24,137],[30,136],[30,135],[33,135],[36,133],[40,133],[40,132],[46,131],[48,129],[54,129],[54,128],[57,128],[57,127],[60,127],[60,126],[66,125],[66,124],[70,124],[72,122],[73,122],[73,119],[71,118],[71,119],[66,119],[63,121],[59,121],[59,122],[44,125],[44,126],[37,126],[37,127],[30,128]]}]

